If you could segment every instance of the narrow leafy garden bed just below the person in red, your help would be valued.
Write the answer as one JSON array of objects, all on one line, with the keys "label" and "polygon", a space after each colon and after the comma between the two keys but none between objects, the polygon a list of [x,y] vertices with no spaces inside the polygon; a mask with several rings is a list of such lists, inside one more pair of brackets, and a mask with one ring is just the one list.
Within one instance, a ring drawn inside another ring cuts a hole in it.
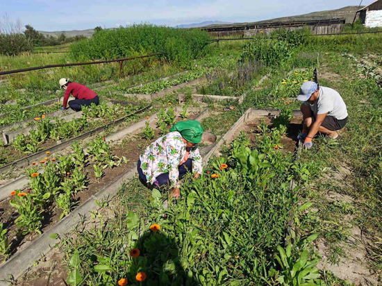
[{"label": "narrow leafy garden bed just below the person in red", "polygon": [[[39,119],[37,130],[28,131],[28,136],[21,133],[14,138],[12,144],[1,147],[1,159],[3,165],[6,165],[0,168],[0,172],[8,171],[14,166],[22,167],[33,162],[33,160],[39,160],[43,158],[44,151],[57,151],[60,146],[63,146],[61,144],[67,144],[73,138],[77,137],[77,140],[81,140],[81,136],[88,137],[89,134],[103,131],[104,126],[110,127],[120,124],[134,113],[143,111],[141,109],[142,106],[129,105],[122,108],[120,105],[108,106],[106,103],[101,103],[99,106],[92,106],[92,108],[83,108],[83,117],[69,122],[58,118],[56,122],[52,123],[51,119],[38,117],[36,118]],[[75,113],[69,117],[76,117],[78,114]],[[15,131],[15,133],[17,132],[19,131]],[[65,140],[65,142],[61,143],[60,140]],[[32,155],[26,157],[25,154],[28,153]],[[13,160],[15,162],[12,162]]]}]

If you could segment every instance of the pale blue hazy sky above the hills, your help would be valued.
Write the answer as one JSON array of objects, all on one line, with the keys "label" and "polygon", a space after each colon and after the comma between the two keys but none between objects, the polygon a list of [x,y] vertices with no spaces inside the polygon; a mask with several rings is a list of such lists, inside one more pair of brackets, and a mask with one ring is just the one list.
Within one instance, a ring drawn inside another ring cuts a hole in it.
[{"label": "pale blue hazy sky above the hills", "polygon": [[0,0],[0,17],[7,14],[38,31],[69,31],[134,23],[256,22],[359,4],[360,0]]}]

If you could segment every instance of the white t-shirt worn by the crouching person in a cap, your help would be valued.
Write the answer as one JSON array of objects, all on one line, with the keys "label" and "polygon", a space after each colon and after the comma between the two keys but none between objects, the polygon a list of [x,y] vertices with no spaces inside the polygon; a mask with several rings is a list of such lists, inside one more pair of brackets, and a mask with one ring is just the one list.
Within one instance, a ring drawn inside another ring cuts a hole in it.
[{"label": "white t-shirt worn by the crouching person in a cap", "polygon": [[304,102],[315,115],[322,115],[328,113],[328,116],[333,116],[338,120],[347,117],[347,108],[342,97],[338,92],[329,87],[319,87],[318,99],[315,103],[310,104],[308,101]]}]

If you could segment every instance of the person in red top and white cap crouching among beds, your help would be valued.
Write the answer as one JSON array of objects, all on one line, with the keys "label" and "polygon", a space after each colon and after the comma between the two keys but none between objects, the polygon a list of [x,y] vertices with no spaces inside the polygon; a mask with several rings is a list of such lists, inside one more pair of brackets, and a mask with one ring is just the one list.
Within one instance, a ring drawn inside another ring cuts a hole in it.
[{"label": "person in red top and white cap crouching among beds", "polygon": [[81,106],[90,106],[92,103],[94,103],[96,106],[99,105],[98,95],[88,87],[85,87],[85,85],[72,83],[68,78],[61,78],[60,87],[65,90],[64,103],[61,109],[67,108],[67,101],[70,94],[76,98],[69,101],[69,108],[72,108],[72,110],[80,111]]}]

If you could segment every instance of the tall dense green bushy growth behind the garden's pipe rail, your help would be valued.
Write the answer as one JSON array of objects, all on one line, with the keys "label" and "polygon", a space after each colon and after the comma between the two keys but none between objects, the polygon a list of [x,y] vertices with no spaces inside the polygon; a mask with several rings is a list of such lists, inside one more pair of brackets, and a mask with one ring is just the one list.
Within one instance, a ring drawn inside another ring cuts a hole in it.
[{"label": "tall dense green bushy growth behind the garden's pipe rail", "polygon": [[76,60],[124,58],[166,53],[168,60],[186,65],[206,54],[210,35],[205,31],[183,30],[151,24],[102,30],[88,40],[71,45]]}]

